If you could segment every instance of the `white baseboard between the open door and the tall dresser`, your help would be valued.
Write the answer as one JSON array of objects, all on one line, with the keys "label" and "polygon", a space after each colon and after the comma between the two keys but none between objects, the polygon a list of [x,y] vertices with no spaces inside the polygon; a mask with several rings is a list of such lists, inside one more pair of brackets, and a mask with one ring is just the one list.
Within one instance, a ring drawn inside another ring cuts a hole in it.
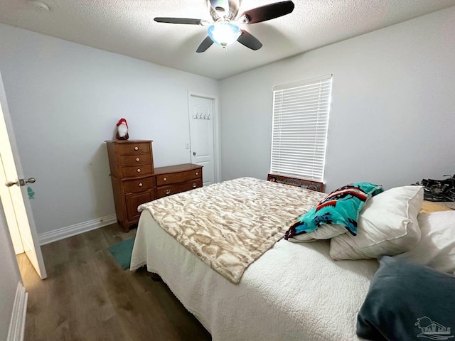
[{"label": "white baseboard between the open door and the tall dresser", "polygon": [[54,229],[50,232],[41,233],[38,234],[38,238],[40,244],[45,245],[52,242],[57,242],[60,239],[75,236],[76,234],[91,231],[92,229],[99,229],[100,227],[114,224],[116,222],[117,217],[115,215],[107,215],[106,217],[89,220],[87,222],[80,222],[79,224],[74,224],[68,227],[62,227],[61,229]]}]

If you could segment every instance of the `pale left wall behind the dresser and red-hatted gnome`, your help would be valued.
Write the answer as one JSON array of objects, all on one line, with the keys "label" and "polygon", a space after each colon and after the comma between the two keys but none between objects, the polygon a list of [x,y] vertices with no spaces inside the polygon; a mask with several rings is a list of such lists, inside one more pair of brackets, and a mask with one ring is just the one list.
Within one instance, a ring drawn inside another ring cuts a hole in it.
[{"label": "pale left wall behind the dresser and red-hatted gnome", "polygon": [[120,117],[156,167],[190,162],[188,91],[218,81],[0,24],[0,70],[38,234],[114,214],[104,141]]}]

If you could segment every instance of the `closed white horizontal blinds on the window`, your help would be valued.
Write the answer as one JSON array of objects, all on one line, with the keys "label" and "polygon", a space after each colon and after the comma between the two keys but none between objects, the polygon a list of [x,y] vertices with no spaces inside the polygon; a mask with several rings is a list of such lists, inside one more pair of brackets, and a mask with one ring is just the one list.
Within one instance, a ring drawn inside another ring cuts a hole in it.
[{"label": "closed white horizontal blinds on the window", "polygon": [[270,173],[323,182],[332,75],[273,88]]}]

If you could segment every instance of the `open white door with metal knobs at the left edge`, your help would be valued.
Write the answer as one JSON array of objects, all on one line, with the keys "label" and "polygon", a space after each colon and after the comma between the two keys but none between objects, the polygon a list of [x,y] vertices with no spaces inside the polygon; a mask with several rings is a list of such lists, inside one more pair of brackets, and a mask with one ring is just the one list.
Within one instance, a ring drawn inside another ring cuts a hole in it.
[{"label": "open white door with metal knobs at the left edge", "polygon": [[[2,194],[1,201],[9,202],[9,205],[13,207],[12,214],[14,214],[12,217],[7,217],[6,221],[10,224],[9,222],[11,220],[16,220],[16,224],[14,225],[18,227],[23,251],[25,251],[38,275],[41,278],[46,278],[47,274],[45,272],[43,254],[41,254],[41,247],[38,242],[38,234],[36,233],[26,186],[27,182],[34,182],[34,179],[26,179],[23,176],[1,75],[0,104],[0,134],[3,136],[1,139],[0,167],[2,168],[1,172],[4,173],[4,178],[6,178],[6,182],[2,181],[0,186],[6,186],[8,188],[6,192],[3,188],[0,191]],[[9,195],[5,193],[9,193]],[[5,213],[7,214],[7,212]]]}]

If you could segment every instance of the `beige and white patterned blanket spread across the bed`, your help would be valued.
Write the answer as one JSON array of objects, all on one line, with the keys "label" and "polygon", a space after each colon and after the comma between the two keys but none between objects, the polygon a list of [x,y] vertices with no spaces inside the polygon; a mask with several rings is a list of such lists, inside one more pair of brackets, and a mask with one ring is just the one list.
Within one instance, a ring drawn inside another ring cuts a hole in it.
[{"label": "beige and white patterned blanket spread across the bed", "polygon": [[326,195],[255,178],[215,183],[159,200],[148,210],[159,226],[232,283]]}]

